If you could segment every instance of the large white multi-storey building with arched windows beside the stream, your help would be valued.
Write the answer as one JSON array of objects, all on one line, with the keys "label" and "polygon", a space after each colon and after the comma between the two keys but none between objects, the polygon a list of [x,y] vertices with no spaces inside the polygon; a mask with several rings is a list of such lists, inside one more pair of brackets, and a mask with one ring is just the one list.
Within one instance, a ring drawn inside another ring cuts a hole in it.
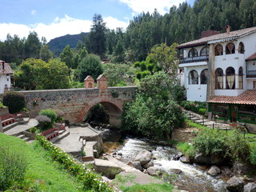
[{"label": "large white multi-storey building with arched windows beside the stream", "polygon": [[188,101],[207,101],[210,112],[230,122],[256,123],[256,27],[206,31],[178,49]]}]

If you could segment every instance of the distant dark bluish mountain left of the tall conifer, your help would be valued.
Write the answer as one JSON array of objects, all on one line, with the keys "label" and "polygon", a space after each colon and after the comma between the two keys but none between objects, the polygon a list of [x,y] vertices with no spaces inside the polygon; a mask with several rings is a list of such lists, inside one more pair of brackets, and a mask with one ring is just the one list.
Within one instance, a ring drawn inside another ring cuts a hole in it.
[{"label": "distant dark bluish mountain left of the tall conifer", "polygon": [[70,45],[70,48],[75,48],[79,41],[84,42],[87,34],[66,34],[65,36],[51,39],[48,45],[50,50],[58,57],[65,46]]}]

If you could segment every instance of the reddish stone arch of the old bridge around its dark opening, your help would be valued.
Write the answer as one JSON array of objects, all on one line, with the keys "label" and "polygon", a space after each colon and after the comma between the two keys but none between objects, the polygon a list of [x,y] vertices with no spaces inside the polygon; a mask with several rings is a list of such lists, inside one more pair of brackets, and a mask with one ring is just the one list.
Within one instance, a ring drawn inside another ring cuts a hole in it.
[{"label": "reddish stone arch of the old bridge around its dark opening", "polygon": [[85,104],[84,109],[79,114],[79,118],[78,118],[79,122],[82,122],[84,120],[84,118],[86,117],[86,114],[88,113],[88,111],[98,103],[102,104],[102,106],[104,106],[104,108],[108,112],[109,119],[110,119],[110,125],[120,127],[121,126],[121,116],[122,116],[122,105],[115,104],[114,102],[105,101],[105,100],[95,101],[95,102],[90,103],[90,105]]}]

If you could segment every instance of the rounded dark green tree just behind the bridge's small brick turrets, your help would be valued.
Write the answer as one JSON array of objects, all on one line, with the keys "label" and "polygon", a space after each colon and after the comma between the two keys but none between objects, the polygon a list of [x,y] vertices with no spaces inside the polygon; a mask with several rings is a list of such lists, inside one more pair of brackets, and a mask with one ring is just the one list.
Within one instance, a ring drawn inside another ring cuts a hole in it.
[{"label": "rounded dark green tree just behind the bridge's small brick turrets", "polygon": [[103,73],[100,58],[95,54],[89,54],[78,64],[76,73],[80,82],[83,82],[87,75],[91,75],[94,79],[98,78],[98,75]]}]

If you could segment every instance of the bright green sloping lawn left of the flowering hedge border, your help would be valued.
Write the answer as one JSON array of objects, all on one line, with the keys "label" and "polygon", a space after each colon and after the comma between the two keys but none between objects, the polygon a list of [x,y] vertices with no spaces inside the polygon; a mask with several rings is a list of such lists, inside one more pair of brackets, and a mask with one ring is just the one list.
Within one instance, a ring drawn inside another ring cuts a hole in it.
[{"label": "bright green sloping lawn left of the flowering hedge border", "polygon": [[22,190],[16,188],[16,191],[82,191],[82,183],[76,182],[58,162],[54,162],[37,142],[27,144],[19,138],[0,133],[0,145],[19,152],[28,162],[25,181],[17,187]]}]

